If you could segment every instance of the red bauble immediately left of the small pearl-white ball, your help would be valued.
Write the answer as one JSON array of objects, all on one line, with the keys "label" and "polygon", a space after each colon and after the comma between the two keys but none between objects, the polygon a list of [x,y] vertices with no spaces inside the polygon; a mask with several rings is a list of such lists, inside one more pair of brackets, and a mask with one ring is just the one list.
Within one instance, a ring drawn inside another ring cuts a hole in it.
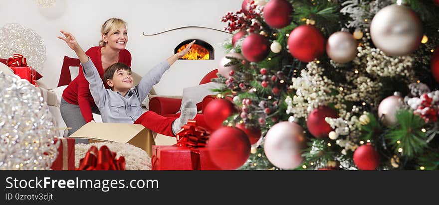
[{"label": "red bauble immediately left of the small pearl-white ball", "polygon": [[270,53],[270,44],[265,36],[252,33],[242,41],[241,51],[245,59],[259,62]]}]

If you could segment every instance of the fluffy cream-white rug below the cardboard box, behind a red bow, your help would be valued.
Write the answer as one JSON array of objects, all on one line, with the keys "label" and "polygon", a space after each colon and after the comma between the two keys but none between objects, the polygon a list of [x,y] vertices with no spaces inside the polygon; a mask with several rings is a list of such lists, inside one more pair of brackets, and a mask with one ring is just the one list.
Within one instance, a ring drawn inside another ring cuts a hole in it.
[{"label": "fluffy cream-white rug below the cardboard box, behind a red bow", "polygon": [[75,144],[75,167],[79,167],[79,160],[85,157],[91,146],[99,149],[103,145],[107,145],[110,151],[116,152],[116,158],[125,157],[126,170],[151,170],[151,157],[144,150],[131,144],[114,142]]}]

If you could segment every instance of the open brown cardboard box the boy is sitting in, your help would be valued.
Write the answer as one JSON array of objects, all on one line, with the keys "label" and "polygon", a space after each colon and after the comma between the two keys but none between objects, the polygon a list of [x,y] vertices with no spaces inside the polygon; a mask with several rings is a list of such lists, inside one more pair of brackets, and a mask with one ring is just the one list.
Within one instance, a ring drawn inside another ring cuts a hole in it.
[{"label": "open brown cardboard box the boy is sitting in", "polygon": [[149,156],[152,156],[152,146],[155,145],[152,131],[141,124],[89,122],[69,138],[88,139],[90,143],[128,143],[145,150]]}]

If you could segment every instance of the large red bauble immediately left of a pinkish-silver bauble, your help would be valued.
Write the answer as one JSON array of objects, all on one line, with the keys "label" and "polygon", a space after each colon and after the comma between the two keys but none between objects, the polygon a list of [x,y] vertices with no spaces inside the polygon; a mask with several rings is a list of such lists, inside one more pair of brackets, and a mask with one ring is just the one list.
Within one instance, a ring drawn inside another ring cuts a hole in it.
[{"label": "large red bauble immediately left of a pinkish-silver bauble", "polygon": [[310,62],[325,52],[325,37],[316,27],[301,25],[291,31],[288,49],[299,61]]}]

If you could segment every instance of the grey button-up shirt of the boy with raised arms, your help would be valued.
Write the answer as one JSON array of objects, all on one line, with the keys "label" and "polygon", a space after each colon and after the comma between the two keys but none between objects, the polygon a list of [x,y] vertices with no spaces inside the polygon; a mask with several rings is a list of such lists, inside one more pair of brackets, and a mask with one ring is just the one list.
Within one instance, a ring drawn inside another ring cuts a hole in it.
[{"label": "grey button-up shirt of the boy with raised arms", "polygon": [[143,76],[139,85],[129,90],[123,97],[119,92],[105,89],[102,79],[90,58],[81,65],[84,76],[90,83],[91,96],[93,96],[94,102],[101,111],[102,122],[112,123],[134,123],[143,113],[143,100],[170,68],[166,60],[159,63]]}]

